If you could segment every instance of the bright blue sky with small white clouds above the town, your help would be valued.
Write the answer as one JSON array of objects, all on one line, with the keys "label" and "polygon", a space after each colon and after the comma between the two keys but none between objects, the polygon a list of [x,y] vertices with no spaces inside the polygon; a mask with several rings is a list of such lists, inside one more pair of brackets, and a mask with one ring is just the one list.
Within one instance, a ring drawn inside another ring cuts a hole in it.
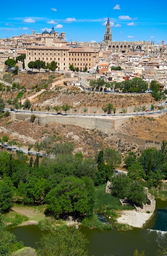
[{"label": "bright blue sky with small white clouds above the town", "polygon": [[167,43],[167,1],[1,1],[0,38],[54,30],[67,41],[102,42],[109,16],[112,41]]}]

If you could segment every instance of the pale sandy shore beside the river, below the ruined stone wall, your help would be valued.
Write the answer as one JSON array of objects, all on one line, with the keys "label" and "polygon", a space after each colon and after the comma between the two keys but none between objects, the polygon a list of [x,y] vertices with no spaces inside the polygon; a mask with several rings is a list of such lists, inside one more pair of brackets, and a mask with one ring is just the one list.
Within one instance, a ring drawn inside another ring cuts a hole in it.
[{"label": "pale sandy shore beside the river, below the ruined stone wall", "polygon": [[117,218],[117,222],[142,228],[152,215],[153,213],[138,213],[136,210],[122,211],[121,216]]}]

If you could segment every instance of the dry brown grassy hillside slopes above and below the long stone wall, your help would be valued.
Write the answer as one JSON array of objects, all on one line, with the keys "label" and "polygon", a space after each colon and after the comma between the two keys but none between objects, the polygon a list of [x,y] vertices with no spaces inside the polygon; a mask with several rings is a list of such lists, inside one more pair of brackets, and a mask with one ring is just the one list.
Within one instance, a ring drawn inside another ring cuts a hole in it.
[{"label": "dry brown grassy hillside slopes above and below the long stone wall", "polygon": [[[5,72],[6,73],[6,72]],[[8,75],[8,74],[7,74]],[[19,82],[20,85],[24,85],[27,91],[24,92],[22,98],[27,98],[29,95],[34,94],[34,91],[28,90],[32,86],[43,83],[43,79],[48,82],[50,74],[19,74],[12,77],[11,81]],[[62,78],[55,74],[54,79],[50,85]],[[8,78],[9,81],[9,78]],[[46,82],[45,81],[45,82]],[[11,90],[10,92],[1,92],[1,97],[4,100],[13,99],[17,97],[18,91]],[[128,106],[141,106],[148,104],[158,104],[154,101],[151,94],[107,94],[107,93],[95,93],[95,92],[80,92],[76,88],[67,88],[64,85],[58,85],[56,90],[46,90],[32,102],[33,108],[45,109],[46,106],[62,106],[68,103],[71,108],[80,107],[98,107],[106,106],[107,103],[112,103],[114,107],[126,108]],[[136,116],[125,121],[124,124],[118,126],[117,132],[130,135],[132,138],[140,138],[144,140],[158,141],[161,143],[166,139],[166,115],[161,117],[154,117],[154,115]],[[126,141],[125,139],[119,139],[116,135],[108,136],[102,134],[97,130],[83,129],[79,126],[62,125],[62,124],[48,124],[43,127],[38,126],[35,123],[29,123],[27,121],[14,122],[10,120],[10,117],[2,118],[0,120],[0,137],[8,135],[9,140],[16,139],[16,141],[22,142],[24,146],[28,143],[35,144],[36,141],[41,141],[45,136],[53,135],[58,142],[72,141],[76,145],[76,152],[82,152],[87,157],[94,156],[99,150],[110,146],[120,150],[123,155],[128,151],[133,150],[140,155],[144,149],[143,146],[133,142]]]}]

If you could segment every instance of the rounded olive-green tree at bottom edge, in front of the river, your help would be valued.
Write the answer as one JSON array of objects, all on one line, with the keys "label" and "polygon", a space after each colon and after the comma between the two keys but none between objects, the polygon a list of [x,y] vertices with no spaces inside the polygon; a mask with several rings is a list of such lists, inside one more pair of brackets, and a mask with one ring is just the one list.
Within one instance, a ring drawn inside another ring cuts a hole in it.
[{"label": "rounded olive-green tree at bottom edge, in front of the river", "polygon": [[86,256],[85,235],[74,227],[58,228],[41,239],[39,256]]}]

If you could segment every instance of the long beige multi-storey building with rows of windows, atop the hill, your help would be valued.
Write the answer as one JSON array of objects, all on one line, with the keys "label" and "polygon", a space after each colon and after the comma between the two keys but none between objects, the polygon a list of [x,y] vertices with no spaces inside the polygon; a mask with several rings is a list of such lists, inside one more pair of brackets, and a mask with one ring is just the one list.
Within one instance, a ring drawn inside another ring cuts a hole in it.
[{"label": "long beige multi-storey building with rows of windows, atop the hill", "polygon": [[80,71],[87,67],[92,70],[98,63],[99,49],[91,48],[71,48],[71,47],[27,47],[26,63],[30,61],[41,60],[46,63],[56,61],[58,63],[58,71],[67,70],[69,65],[78,67]]}]

